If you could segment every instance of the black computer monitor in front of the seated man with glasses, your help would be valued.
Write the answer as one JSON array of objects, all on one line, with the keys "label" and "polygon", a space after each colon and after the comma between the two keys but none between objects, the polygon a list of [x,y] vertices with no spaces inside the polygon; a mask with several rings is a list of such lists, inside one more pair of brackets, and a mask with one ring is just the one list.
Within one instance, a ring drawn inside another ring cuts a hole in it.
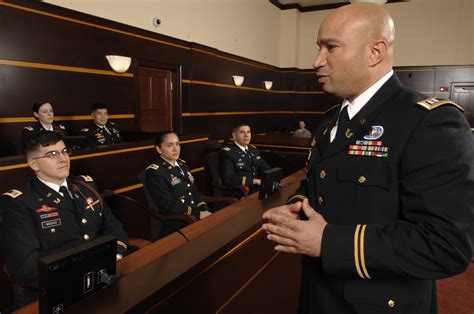
[{"label": "black computer monitor in front of the seated man with glasses", "polygon": [[116,273],[117,239],[106,235],[39,258],[40,313],[60,313],[102,289]]}]

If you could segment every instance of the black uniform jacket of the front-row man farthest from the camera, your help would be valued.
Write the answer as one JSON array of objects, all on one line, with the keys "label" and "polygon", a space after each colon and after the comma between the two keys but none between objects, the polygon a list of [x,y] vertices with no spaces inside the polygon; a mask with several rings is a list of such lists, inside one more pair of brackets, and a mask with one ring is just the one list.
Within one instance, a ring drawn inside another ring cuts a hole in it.
[{"label": "black uniform jacket of the front-row man farthest from the camera", "polygon": [[247,146],[250,156],[236,144],[230,144],[219,152],[219,167],[225,185],[246,185],[253,187],[253,179],[271,167],[260,157],[260,151],[253,145]]}]

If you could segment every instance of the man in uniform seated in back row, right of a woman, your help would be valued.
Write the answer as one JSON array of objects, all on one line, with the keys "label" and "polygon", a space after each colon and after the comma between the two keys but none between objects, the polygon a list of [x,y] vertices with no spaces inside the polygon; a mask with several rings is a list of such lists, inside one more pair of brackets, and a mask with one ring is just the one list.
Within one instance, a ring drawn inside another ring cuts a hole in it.
[{"label": "man in uniform seated in back row, right of a woman", "polygon": [[120,143],[122,138],[117,125],[108,121],[109,107],[106,104],[92,105],[92,119],[94,120],[88,128],[81,130],[81,134],[87,136],[90,146],[110,145]]}]

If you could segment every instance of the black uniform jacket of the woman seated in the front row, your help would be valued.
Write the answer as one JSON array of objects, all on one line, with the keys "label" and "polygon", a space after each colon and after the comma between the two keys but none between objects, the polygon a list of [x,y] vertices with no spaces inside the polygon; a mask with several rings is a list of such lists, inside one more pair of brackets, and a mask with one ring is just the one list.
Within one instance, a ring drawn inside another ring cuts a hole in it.
[{"label": "black uniform jacket of the woman seated in the front row", "polygon": [[194,184],[188,165],[182,159],[176,161],[183,170],[159,157],[145,171],[145,187],[163,215],[193,215],[199,219],[200,211],[209,208]]}]

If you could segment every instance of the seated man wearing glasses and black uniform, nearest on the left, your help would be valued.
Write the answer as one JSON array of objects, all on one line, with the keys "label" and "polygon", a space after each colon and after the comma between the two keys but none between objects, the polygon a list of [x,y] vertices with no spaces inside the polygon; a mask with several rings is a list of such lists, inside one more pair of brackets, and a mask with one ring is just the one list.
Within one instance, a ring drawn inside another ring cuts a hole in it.
[{"label": "seated man wearing glasses and black uniform, nearest on the left", "polygon": [[[117,259],[127,251],[127,234],[89,176],[68,178],[69,153],[57,132],[38,131],[24,143],[36,176],[0,197],[5,268],[15,287],[37,286],[38,258],[97,237],[117,237]],[[25,302],[37,297],[34,288]],[[16,304],[18,304],[16,300]]]}]

